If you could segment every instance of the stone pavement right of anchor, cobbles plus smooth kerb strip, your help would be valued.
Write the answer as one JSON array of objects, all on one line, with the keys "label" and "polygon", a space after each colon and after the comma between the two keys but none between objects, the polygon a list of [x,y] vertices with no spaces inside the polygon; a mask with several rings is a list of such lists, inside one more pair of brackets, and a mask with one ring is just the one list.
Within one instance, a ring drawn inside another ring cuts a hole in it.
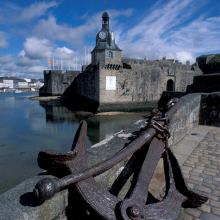
[{"label": "stone pavement right of anchor, cobbles plus smooth kerb strip", "polygon": [[188,186],[209,200],[178,220],[220,220],[220,128],[198,126],[173,149]]}]

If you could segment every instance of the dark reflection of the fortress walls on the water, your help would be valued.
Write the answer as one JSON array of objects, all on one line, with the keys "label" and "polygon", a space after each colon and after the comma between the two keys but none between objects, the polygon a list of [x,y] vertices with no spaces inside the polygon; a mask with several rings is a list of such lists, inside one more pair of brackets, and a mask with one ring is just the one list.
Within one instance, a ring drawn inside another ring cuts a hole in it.
[{"label": "dark reflection of the fortress walls on the water", "polygon": [[90,112],[72,112],[67,107],[61,106],[59,102],[40,102],[45,109],[47,123],[56,124],[67,122],[80,122],[85,120],[88,125],[88,139],[90,144],[95,144],[114,133],[126,129],[128,125],[143,118],[145,113],[118,114],[118,115],[94,115]]}]

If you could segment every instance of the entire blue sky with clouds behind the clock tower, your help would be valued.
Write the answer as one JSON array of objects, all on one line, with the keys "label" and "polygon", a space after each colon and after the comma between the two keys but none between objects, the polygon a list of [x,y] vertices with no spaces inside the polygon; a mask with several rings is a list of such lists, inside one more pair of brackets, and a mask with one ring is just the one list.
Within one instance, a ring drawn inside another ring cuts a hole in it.
[{"label": "entire blue sky with clouds behind the clock tower", "polygon": [[42,78],[53,56],[66,68],[88,62],[103,11],[123,56],[220,53],[219,0],[0,0],[0,75]]}]

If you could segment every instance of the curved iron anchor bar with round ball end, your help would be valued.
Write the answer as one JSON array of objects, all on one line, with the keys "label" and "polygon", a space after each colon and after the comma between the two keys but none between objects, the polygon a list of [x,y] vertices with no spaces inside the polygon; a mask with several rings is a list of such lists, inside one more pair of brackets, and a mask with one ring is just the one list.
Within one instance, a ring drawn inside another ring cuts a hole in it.
[{"label": "curved iron anchor bar with round ball end", "polygon": [[[61,179],[42,179],[40,180],[35,188],[34,192],[39,200],[46,200],[51,198],[56,192],[66,188],[67,186],[71,184],[75,184],[77,182],[80,182],[82,180],[86,180],[89,177],[97,176],[110,168],[112,168],[115,164],[121,162],[122,160],[128,158],[131,156],[134,152],[139,150],[142,146],[149,143],[154,135],[156,134],[155,128],[148,128],[146,131],[144,131],[138,138],[136,138],[134,141],[132,141],[129,145],[127,145],[126,148],[123,148],[121,151],[116,153],[111,158],[98,163],[91,168],[84,169],[82,171],[79,171],[77,173],[72,173],[70,175],[67,175]],[[50,189],[50,193],[46,193],[47,189]],[[45,196],[45,195],[48,196]]]}]

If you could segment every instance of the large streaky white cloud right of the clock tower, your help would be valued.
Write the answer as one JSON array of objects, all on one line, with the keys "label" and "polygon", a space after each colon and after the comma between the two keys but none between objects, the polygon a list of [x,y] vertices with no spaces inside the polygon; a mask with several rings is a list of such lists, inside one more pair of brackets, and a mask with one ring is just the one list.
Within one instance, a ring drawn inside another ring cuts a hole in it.
[{"label": "large streaky white cloud right of the clock tower", "polygon": [[193,0],[155,4],[134,27],[116,33],[124,55],[193,62],[198,53],[220,49],[220,17],[200,16],[189,21],[200,6]]}]

